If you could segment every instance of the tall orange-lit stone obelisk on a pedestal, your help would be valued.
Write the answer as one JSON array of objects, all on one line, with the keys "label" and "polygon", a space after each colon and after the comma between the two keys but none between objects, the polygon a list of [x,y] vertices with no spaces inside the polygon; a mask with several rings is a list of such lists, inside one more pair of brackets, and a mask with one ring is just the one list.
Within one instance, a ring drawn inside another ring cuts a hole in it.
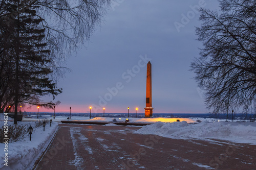
[{"label": "tall orange-lit stone obelisk on a pedestal", "polygon": [[152,108],[152,81],[151,81],[151,62],[146,65],[146,107],[145,117],[151,117],[153,114]]}]

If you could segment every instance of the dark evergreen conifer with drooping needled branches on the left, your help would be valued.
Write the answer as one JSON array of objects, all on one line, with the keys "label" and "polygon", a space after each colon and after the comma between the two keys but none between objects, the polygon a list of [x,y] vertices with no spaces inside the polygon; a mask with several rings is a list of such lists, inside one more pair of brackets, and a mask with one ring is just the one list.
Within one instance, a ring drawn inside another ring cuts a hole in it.
[{"label": "dark evergreen conifer with drooping needled branches on the left", "polygon": [[[9,1],[9,12],[18,11],[21,1]],[[7,54],[15,62],[12,65],[11,84],[15,84],[13,91],[15,105],[14,124],[17,124],[18,104],[25,102],[34,104],[42,95],[59,94],[56,84],[50,78],[51,56],[45,40],[45,29],[40,28],[43,21],[36,15],[37,6],[30,6],[23,13],[11,16],[6,35],[9,35]]]}]

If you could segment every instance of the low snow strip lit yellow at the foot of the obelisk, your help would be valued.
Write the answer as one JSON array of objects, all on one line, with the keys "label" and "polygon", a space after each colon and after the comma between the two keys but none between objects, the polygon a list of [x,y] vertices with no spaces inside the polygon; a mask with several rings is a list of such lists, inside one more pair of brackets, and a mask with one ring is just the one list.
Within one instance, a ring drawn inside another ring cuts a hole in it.
[{"label": "low snow strip lit yellow at the foot of the obelisk", "polygon": [[[84,120],[84,121],[92,121],[92,122],[113,122],[114,119],[116,119],[116,122],[125,122],[125,119],[127,117],[122,117],[122,118],[113,118],[113,117],[95,117],[92,119]],[[155,117],[155,118],[134,118],[134,117],[129,117],[130,123],[156,123],[156,122],[165,122],[165,123],[172,123],[176,122],[177,119],[182,121],[186,121],[187,123],[198,123],[195,120],[191,118],[165,118],[165,117]],[[114,120],[115,122],[115,120]]]}]

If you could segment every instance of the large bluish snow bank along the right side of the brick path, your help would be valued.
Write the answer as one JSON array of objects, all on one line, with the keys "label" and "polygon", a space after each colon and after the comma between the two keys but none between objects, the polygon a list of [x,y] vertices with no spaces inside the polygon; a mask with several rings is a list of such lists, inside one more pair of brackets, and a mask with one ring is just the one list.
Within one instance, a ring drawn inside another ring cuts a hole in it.
[{"label": "large bluish snow bank along the right side of the brick path", "polygon": [[187,122],[174,122],[147,125],[134,133],[156,134],[169,138],[197,138],[221,139],[237,143],[256,144],[256,123],[231,123],[231,122],[202,122],[188,124]]}]

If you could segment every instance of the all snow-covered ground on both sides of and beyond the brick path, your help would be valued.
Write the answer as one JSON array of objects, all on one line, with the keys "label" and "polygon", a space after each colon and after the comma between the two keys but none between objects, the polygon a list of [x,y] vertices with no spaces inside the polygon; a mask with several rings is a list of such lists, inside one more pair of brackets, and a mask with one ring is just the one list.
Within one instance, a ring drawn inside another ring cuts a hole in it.
[{"label": "all snow-covered ground on both sides of and beyond the brick path", "polygon": [[[61,120],[67,120],[67,116],[57,116],[55,119],[51,118],[53,123],[51,127],[49,124],[45,127],[39,127],[33,130],[32,140],[27,136],[23,141],[8,143],[8,167],[4,165],[4,148],[5,144],[0,143],[1,164],[0,169],[31,169],[36,159],[44,152],[58,129],[58,123]],[[113,117],[95,117],[89,119],[88,117],[72,117],[71,120],[82,121],[98,121],[110,122],[124,122],[126,118]],[[177,119],[180,122],[176,122]],[[201,123],[196,120],[202,120]],[[32,125],[37,121],[37,118],[23,118],[23,122],[18,122],[20,125]],[[252,122],[211,122],[208,119],[202,118],[131,118],[131,123],[153,123],[137,130],[135,133],[140,134],[157,134],[169,138],[188,139],[196,138],[199,140],[209,140],[211,138],[229,140],[239,143],[256,144],[256,123]],[[184,121],[186,120],[186,122]],[[8,119],[8,125],[13,125],[11,118]],[[115,120],[114,120],[115,122]],[[155,123],[156,122],[156,123]],[[188,124],[189,123],[189,124]],[[197,123],[197,124],[196,124]],[[0,117],[0,126],[4,125],[3,119]],[[117,126],[115,124],[108,124],[105,126]]]}]

